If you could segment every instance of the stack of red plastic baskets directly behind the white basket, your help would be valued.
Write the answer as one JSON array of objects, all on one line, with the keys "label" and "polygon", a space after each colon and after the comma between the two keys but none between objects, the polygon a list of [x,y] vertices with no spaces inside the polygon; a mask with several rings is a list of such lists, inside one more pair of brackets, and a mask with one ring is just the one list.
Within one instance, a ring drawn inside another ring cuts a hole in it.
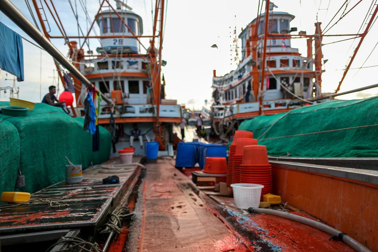
[{"label": "stack of red plastic baskets directly behind the white basket", "polygon": [[240,165],[240,182],[263,185],[264,194],[272,193],[272,166],[264,145],[251,145],[243,148],[243,160]]}]

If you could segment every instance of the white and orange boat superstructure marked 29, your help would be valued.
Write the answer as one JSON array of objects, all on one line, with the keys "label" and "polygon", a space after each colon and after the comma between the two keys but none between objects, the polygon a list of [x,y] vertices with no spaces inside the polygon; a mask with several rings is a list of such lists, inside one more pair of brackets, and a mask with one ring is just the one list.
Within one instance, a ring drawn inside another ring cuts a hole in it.
[{"label": "white and orange boat superstructure marked 29", "polygon": [[[164,99],[164,92],[153,94],[152,77],[155,82],[161,83],[160,71],[156,76],[157,67],[152,60],[153,55],[156,57],[156,48],[144,47],[147,54],[141,53],[142,18],[131,8],[117,7],[116,10],[104,10],[95,18],[100,28],[97,38],[101,40],[97,53],[89,51],[84,54],[83,50],[76,48],[77,53],[73,53],[72,57],[85,77],[115,103],[112,109],[112,105],[101,102],[98,122],[109,124],[110,115],[114,113],[117,127],[126,135],[137,123],[146,138],[153,139],[155,135],[151,129],[156,121],[162,124],[163,134],[172,135],[172,123],[181,122],[181,107],[175,100]],[[71,44],[76,45],[74,42]],[[161,62],[164,65],[164,61]],[[82,92],[76,90],[77,101]],[[77,116],[84,116],[83,103],[78,102],[75,110]],[[169,141],[172,136],[166,139]],[[120,138],[120,147],[128,146],[127,140],[127,137]]]}]

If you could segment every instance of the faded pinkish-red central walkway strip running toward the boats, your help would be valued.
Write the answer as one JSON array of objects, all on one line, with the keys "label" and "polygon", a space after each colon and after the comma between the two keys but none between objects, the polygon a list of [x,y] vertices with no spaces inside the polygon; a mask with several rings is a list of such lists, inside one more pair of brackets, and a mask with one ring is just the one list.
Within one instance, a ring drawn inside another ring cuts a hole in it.
[{"label": "faded pinkish-red central walkway strip running toward the boats", "polygon": [[130,226],[125,250],[246,251],[225,224],[206,208],[192,185],[169,160],[148,164],[135,207],[139,215]]}]

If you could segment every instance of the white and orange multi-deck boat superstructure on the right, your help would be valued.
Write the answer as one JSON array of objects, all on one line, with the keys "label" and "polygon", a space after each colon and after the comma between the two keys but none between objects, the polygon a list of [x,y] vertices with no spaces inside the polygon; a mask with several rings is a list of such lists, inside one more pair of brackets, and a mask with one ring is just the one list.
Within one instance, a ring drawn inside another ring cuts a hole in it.
[{"label": "white and orange multi-deck boat superstructure on the right", "polygon": [[[259,114],[277,114],[303,106],[306,100],[321,96],[322,57],[316,34],[307,39],[307,55],[291,47],[291,34],[297,31],[290,23],[295,18],[288,12],[269,12],[266,40],[265,73],[262,78],[264,31],[263,13],[242,29],[242,58],[237,68],[224,76],[212,78],[213,106],[203,108],[205,117],[230,123]],[[320,23],[316,23],[320,29]],[[318,30],[318,29],[317,29]],[[299,31],[299,34],[306,34]],[[313,50],[314,44],[314,50]],[[314,51],[314,52],[313,52]],[[262,89],[260,87],[263,79]],[[259,100],[262,100],[261,111]]]}]

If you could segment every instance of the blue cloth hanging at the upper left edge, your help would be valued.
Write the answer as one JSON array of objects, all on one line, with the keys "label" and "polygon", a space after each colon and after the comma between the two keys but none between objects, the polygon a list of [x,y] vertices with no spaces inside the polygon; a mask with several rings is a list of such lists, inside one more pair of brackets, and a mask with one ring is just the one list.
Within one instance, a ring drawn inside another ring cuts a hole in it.
[{"label": "blue cloth hanging at the upper left edge", "polygon": [[24,80],[23,47],[20,34],[0,22],[0,68]]}]

